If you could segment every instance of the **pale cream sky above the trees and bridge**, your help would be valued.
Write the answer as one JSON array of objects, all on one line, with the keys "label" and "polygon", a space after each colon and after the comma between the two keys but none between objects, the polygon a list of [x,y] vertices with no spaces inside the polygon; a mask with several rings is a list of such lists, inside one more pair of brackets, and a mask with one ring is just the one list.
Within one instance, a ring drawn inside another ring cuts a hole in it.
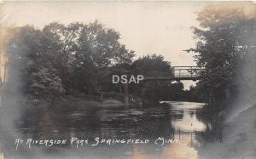
[{"label": "pale cream sky above the trees and bridge", "polygon": [[[195,47],[192,26],[203,3],[192,2],[5,2],[3,20],[7,26],[30,24],[43,28],[50,22],[63,24],[98,20],[119,31],[120,41],[135,51],[161,54],[172,65],[195,65],[183,50]],[[192,82],[183,82],[189,88]]]}]

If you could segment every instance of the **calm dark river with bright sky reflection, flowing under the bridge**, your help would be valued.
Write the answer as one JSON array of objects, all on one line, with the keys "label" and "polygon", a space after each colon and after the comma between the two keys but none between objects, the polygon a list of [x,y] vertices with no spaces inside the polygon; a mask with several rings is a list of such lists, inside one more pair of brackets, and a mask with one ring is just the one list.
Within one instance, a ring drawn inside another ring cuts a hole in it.
[{"label": "calm dark river with bright sky reflection, flowing under the bridge", "polygon": [[[17,146],[17,140],[2,136],[2,151],[6,158],[199,158],[198,137],[211,128],[199,115],[204,104],[165,103],[59,113],[38,109],[15,125],[12,136],[23,143]],[[67,143],[49,146],[27,139],[67,139]]]}]

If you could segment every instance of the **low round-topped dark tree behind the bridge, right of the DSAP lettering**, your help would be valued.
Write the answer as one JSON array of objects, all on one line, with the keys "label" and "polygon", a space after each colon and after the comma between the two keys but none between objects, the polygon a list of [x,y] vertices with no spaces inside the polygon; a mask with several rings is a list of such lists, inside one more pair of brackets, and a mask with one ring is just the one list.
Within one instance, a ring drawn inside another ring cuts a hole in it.
[{"label": "low round-topped dark tree behind the bridge, right of the DSAP lettering", "polygon": [[[134,61],[131,65],[131,72],[134,75],[143,77],[172,77],[172,67],[170,62],[157,54],[143,56]],[[144,81],[139,86],[133,86],[133,94],[137,94],[143,99],[157,101],[166,97],[165,88],[170,86],[170,82]],[[168,91],[168,90],[166,90]]]}]

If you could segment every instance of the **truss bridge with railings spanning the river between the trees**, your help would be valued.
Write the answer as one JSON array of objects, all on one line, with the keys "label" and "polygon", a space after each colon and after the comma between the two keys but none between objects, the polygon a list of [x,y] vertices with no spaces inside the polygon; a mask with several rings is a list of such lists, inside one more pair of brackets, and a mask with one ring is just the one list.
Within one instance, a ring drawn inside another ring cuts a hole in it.
[{"label": "truss bridge with railings spanning the river between the trees", "polygon": [[173,66],[173,77],[144,77],[143,81],[197,81],[201,79],[201,71],[204,70],[203,67],[199,66]]}]

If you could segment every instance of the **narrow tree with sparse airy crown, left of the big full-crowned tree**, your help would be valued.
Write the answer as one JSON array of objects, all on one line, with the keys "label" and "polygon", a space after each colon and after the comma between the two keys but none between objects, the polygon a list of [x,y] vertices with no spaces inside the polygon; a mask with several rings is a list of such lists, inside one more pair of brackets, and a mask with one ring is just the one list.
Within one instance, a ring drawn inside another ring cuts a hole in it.
[{"label": "narrow tree with sparse airy crown, left of the big full-crowned tree", "polygon": [[52,52],[49,54],[49,59],[67,89],[73,86],[73,53],[77,48],[76,43],[83,27],[84,25],[80,23],[71,23],[64,26],[54,22],[44,26],[43,29],[44,34],[51,39],[49,48]]}]

